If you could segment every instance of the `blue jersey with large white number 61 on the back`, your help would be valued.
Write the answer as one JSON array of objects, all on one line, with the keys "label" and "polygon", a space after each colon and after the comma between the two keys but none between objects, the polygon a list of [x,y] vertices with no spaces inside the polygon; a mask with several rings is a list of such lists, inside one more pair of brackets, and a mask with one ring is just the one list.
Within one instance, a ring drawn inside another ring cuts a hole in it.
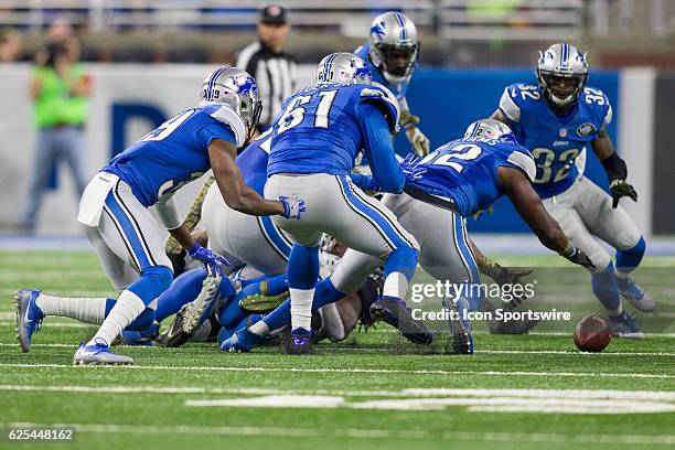
[{"label": "blue jersey with large white number 61 on the back", "polygon": [[272,124],[267,175],[349,175],[356,154],[367,146],[366,104],[384,111],[389,129],[396,129],[398,103],[388,89],[378,86],[318,83],[287,98]]}]

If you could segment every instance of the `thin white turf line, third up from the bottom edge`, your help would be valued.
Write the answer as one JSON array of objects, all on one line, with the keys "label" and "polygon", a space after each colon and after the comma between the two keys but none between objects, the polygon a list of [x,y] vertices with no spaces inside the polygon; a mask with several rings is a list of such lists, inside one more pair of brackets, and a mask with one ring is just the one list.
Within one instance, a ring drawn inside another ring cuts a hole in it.
[{"label": "thin white turf line, third up from the bottom edge", "polygon": [[[0,367],[24,368],[75,368],[85,371],[92,367],[103,369],[146,369],[146,371],[189,371],[189,372],[292,372],[308,374],[404,374],[404,375],[492,375],[492,376],[543,376],[543,377],[598,377],[598,378],[662,378],[673,379],[666,374],[602,374],[589,372],[497,372],[497,371],[403,371],[389,368],[298,368],[298,367],[227,367],[227,366],[156,366],[120,365],[89,366],[69,364],[11,364],[0,363]],[[87,367],[87,368],[85,368]]]}]

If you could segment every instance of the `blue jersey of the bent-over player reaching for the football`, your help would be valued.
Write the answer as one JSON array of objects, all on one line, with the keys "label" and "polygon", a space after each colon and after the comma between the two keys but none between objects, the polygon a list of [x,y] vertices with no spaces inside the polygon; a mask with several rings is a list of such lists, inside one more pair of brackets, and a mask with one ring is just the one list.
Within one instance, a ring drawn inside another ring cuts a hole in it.
[{"label": "blue jersey of the bent-over player reaching for the football", "polygon": [[431,195],[450,199],[465,217],[490,207],[503,195],[497,181],[497,168],[502,165],[522,170],[529,180],[536,171],[529,151],[517,143],[458,139],[422,159],[418,167],[427,172],[410,184]]}]

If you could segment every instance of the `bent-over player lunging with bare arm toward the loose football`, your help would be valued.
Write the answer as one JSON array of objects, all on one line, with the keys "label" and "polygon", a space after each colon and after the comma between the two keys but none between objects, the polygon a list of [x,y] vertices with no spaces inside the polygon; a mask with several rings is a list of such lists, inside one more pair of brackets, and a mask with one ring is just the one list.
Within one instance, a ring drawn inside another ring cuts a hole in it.
[{"label": "bent-over player lunging with bare arm toward the loose football", "polygon": [[[518,214],[542,244],[570,261],[593,268],[588,256],[565,236],[531,185],[535,162],[519,146],[511,129],[492,119],[479,120],[467,129],[463,139],[441,146],[425,159],[401,163],[407,184],[400,194],[385,194],[383,203],[420,245],[419,264],[433,278],[452,283],[475,285],[480,274],[468,242],[464,218],[507,195]],[[382,264],[377,257],[349,249],[333,274],[317,286],[312,309],[336,301],[358,289]],[[471,292],[471,290],[469,290]],[[458,309],[473,311],[480,296],[460,298]],[[371,311],[378,315],[375,302]],[[463,314],[460,314],[462,317]],[[257,325],[237,331],[221,345],[223,350],[247,352],[260,334],[283,326],[290,320],[290,304],[285,302]],[[472,353],[471,324],[460,321],[453,352]]]}]

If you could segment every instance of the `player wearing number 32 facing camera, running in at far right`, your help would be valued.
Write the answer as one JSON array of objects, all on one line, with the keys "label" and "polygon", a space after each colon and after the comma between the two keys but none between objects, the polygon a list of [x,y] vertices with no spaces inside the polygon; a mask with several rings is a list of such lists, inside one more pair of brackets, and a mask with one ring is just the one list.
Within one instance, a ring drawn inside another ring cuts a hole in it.
[{"label": "player wearing number 32 facing camera, running in at far right", "polygon": [[[537,163],[534,188],[570,240],[593,261],[592,290],[608,310],[614,335],[642,339],[621,303],[623,297],[640,311],[655,307],[630,277],[642,260],[645,242],[619,200],[636,201],[638,193],[607,132],[612,107],[600,89],[586,86],[587,78],[585,54],[565,42],[554,44],[540,52],[537,85],[506,87],[492,117],[512,126],[532,151]],[[589,146],[607,171],[611,195],[583,176]],[[617,249],[615,267],[594,237]]]}]

